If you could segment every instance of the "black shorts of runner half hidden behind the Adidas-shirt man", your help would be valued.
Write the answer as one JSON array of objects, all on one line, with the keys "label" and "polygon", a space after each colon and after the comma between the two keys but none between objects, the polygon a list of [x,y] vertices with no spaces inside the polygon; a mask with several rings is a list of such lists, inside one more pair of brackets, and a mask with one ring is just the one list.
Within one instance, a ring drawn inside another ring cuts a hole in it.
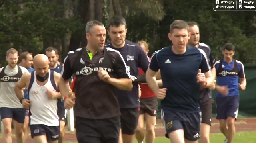
[{"label": "black shorts of runner half hidden behind the Adidas-shirt man", "polygon": [[205,102],[200,103],[200,109],[202,112],[201,123],[211,125],[211,123],[212,123],[212,104],[214,104],[214,100],[212,98]]}]

